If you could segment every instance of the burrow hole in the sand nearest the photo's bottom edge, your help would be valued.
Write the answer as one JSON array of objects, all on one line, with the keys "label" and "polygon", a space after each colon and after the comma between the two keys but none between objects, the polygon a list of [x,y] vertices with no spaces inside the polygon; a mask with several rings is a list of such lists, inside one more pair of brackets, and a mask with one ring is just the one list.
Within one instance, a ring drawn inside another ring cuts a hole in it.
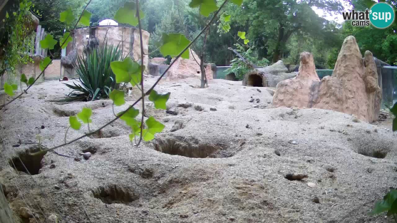
[{"label": "burrow hole in the sand nearest the photo's bottom edge", "polygon": [[91,191],[94,198],[100,199],[105,204],[127,204],[139,199],[139,196],[129,188],[118,185],[100,186]]}]

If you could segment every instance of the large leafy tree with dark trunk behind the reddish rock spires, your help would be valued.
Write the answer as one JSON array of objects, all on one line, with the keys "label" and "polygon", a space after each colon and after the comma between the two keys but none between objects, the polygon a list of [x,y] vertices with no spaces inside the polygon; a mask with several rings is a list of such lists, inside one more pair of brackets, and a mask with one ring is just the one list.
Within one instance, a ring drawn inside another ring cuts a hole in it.
[{"label": "large leafy tree with dark trunk behind the reddish rock spires", "polygon": [[335,26],[319,17],[311,8],[314,6],[327,12],[342,10],[337,0],[245,0],[242,9],[229,5],[225,11],[248,29],[249,39],[263,51],[258,55],[271,56],[272,62],[277,62],[293,34],[336,38]]}]

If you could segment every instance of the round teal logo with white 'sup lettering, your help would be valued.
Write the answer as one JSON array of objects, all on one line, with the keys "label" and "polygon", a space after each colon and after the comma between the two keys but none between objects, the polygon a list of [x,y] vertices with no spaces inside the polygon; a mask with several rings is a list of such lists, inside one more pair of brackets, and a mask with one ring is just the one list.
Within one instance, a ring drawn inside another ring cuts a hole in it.
[{"label": "round teal logo with white 'sup lettering", "polygon": [[394,10],[386,3],[377,3],[370,10],[370,21],[372,25],[379,29],[389,27],[394,21]]}]

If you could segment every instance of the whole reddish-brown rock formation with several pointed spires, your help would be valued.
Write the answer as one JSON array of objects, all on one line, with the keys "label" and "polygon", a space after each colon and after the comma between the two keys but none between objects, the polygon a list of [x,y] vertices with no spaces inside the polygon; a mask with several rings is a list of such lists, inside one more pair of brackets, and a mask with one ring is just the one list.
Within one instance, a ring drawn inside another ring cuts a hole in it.
[{"label": "whole reddish-brown rock formation with several pointed spires", "polygon": [[319,81],[312,55],[304,52],[299,75],[277,85],[273,105],[334,110],[373,122],[378,118],[382,92],[370,51],[365,52],[364,62],[356,39],[349,36],[343,42],[332,77]]}]

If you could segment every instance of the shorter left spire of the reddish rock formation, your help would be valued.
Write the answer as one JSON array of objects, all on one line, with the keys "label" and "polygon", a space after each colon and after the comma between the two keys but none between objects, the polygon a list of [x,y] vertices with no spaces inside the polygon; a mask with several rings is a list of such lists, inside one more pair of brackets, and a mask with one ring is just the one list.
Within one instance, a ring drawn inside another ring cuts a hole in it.
[{"label": "shorter left spire of the reddish rock formation", "polygon": [[273,105],[310,108],[314,100],[312,92],[318,89],[319,83],[313,55],[303,52],[298,75],[278,83],[273,96]]}]

